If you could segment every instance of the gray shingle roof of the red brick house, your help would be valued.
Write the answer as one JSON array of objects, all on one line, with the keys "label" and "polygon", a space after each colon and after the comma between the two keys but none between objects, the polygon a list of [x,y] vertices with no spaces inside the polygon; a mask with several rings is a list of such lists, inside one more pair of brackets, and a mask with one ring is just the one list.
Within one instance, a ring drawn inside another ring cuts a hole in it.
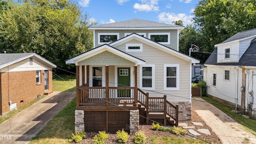
[{"label": "gray shingle roof of the red brick house", "polygon": [[0,54],[0,66],[33,54],[34,53]]}]

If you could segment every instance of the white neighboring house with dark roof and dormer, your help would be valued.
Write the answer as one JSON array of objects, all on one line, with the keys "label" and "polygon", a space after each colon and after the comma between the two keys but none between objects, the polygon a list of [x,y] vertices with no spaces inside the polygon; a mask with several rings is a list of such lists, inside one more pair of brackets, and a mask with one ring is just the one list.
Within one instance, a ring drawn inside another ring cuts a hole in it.
[{"label": "white neighboring house with dark roof and dormer", "polygon": [[204,63],[207,95],[256,118],[256,29],[239,32],[222,43]]}]

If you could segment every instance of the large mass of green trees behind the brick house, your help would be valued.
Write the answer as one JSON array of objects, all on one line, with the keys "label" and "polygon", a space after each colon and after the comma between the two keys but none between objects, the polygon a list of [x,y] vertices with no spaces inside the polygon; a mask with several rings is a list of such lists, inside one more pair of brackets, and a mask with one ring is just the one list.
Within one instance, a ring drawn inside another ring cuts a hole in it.
[{"label": "large mass of green trees behind the brick house", "polygon": [[0,19],[0,52],[35,52],[59,68],[71,69],[65,60],[93,47],[87,26],[95,23],[68,0],[10,2]]}]

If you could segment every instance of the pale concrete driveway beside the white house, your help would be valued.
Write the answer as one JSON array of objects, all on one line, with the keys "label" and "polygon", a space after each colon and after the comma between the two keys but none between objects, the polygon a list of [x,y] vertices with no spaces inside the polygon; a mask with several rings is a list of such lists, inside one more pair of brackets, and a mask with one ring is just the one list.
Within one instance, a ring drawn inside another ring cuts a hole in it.
[{"label": "pale concrete driveway beside the white house", "polygon": [[256,144],[255,136],[246,132],[242,125],[212,104],[198,100],[204,101],[202,98],[192,98],[192,110],[215,132],[222,144]]}]

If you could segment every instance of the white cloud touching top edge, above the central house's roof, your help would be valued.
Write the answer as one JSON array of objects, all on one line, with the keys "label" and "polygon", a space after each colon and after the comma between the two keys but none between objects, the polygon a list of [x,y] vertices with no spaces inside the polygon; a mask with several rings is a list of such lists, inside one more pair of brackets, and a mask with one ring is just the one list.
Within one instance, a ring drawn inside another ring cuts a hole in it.
[{"label": "white cloud touching top edge, above the central house's roof", "polygon": [[141,4],[135,3],[133,5],[133,8],[138,10],[138,11],[158,11],[159,6],[158,5],[158,0],[140,0]]}]

